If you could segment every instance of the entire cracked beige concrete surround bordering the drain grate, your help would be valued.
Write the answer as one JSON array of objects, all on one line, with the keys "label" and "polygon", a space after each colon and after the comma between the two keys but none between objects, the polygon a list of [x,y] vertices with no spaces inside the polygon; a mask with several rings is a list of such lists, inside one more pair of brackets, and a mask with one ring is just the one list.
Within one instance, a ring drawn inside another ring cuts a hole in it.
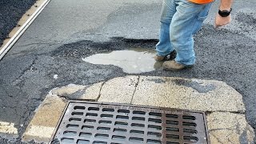
[{"label": "entire cracked beige concrete surround bordering the drain grate", "polygon": [[242,95],[225,82],[173,77],[126,76],[91,86],[51,90],[22,140],[49,142],[68,100],[162,106],[206,112],[211,143],[254,143]]}]

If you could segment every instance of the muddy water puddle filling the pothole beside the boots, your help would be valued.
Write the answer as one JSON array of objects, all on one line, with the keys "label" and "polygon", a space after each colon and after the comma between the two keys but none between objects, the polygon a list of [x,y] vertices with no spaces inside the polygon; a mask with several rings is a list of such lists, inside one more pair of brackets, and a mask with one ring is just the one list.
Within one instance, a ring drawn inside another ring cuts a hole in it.
[{"label": "muddy water puddle filling the pothole beside the boots", "polygon": [[162,62],[156,62],[153,49],[133,48],[129,50],[116,50],[104,54],[94,54],[82,58],[85,62],[121,67],[125,73],[139,74],[162,68]]}]

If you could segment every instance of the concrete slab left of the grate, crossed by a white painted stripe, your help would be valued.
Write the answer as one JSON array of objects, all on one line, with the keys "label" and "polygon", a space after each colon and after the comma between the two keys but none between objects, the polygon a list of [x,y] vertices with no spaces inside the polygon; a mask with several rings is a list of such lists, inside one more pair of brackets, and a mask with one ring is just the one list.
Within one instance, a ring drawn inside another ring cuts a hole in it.
[{"label": "concrete slab left of the grate, crossed by a white painted stripe", "polygon": [[65,109],[67,101],[57,95],[47,95],[42,104],[38,107],[34,118],[31,120],[26,132],[22,136],[23,142],[48,143],[58,120]]}]

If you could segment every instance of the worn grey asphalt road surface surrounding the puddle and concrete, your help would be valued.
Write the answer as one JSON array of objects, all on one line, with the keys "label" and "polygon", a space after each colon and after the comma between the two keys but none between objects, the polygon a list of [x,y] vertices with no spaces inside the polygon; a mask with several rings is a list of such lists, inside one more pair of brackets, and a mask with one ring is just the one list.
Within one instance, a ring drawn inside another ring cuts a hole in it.
[{"label": "worn grey asphalt road surface surrounding the puddle and concrete", "polygon": [[[52,0],[0,62],[0,121],[14,122],[21,139],[34,110],[55,87],[88,85],[124,76],[117,66],[93,65],[82,58],[133,47],[154,49],[161,0]],[[214,30],[210,10],[195,36],[194,68],[141,75],[215,79],[243,95],[246,118],[256,129],[256,3],[237,0],[234,21]],[[58,78],[54,78],[58,74]],[[6,142],[0,138],[0,143]]]}]

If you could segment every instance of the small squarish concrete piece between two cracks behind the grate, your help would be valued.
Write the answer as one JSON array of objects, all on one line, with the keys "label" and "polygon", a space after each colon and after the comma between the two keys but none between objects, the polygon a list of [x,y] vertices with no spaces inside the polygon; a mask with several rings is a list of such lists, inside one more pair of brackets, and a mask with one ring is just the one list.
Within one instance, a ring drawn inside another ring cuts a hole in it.
[{"label": "small squarish concrete piece between two cracks behind the grate", "polygon": [[110,79],[102,86],[98,102],[130,103],[137,84],[138,76]]}]

